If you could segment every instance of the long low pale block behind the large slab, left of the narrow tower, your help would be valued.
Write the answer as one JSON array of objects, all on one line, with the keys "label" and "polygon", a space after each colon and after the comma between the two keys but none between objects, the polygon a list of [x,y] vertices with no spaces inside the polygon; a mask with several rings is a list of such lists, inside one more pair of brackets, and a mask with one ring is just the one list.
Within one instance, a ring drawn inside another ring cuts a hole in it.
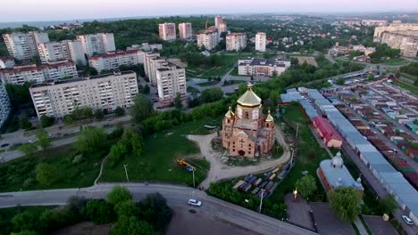
[{"label": "long low pale block behind the large slab, left of the narrow tower", "polygon": [[121,65],[144,63],[144,53],[139,50],[115,51],[94,55],[88,59],[91,67],[97,71],[118,69]]}]

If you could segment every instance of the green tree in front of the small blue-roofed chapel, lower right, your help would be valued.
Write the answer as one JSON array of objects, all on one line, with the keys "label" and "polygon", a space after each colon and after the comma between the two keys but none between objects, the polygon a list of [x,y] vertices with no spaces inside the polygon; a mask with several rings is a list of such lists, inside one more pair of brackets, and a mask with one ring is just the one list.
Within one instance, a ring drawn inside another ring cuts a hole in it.
[{"label": "green tree in front of the small blue-roofed chapel, lower right", "polygon": [[362,194],[353,188],[344,187],[329,192],[330,208],[341,220],[353,222],[360,213]]}]

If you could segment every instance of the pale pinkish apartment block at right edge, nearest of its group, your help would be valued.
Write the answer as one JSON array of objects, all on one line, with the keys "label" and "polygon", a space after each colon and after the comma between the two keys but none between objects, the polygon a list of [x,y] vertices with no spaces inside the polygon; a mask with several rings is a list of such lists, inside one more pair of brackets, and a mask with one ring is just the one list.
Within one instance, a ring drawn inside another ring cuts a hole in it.
[{"label": "pale pinkish apartment block at right edge, nearest of its group", "polygon": [[380,43],[399,49],[402,56],[418,56],[418,31],[384,32]]}]

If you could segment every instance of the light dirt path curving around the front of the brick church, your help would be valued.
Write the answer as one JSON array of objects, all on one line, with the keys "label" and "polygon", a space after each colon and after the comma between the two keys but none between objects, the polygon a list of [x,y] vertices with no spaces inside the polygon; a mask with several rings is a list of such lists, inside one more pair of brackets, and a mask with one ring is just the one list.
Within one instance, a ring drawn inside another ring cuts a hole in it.
[{"label": "light dirt path curving around the front of the brick church", "polygon": [[200,147],[202,156],[211,163],[211,169],[204,182],[200,186],[209,187],[211,182],[217,182],[222,179],[235,178],[246,174],[256,174],[268,171],[275,166],[288,162],[290,159],[290,150],[284,140],[281,130],[276,127],[276,140],[283,147],[283,155],[279,159],[265,160],[255,166],[226,166],[221,162],[221,154],[214,152],[211,147],[211,141],[216,134],[207,135],[188,135],[190,141],[196,142]]}]

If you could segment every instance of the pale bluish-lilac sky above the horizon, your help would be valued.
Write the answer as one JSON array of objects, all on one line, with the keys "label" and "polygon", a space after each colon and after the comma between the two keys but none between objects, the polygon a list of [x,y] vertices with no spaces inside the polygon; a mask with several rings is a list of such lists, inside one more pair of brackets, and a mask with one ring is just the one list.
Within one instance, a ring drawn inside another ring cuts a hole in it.
[{"label": "pale bluish-lilac sky above the horizon", "polygon": [[2,0],[0,21],[105,19],[135,16],[417,11],[416,0]]}]

